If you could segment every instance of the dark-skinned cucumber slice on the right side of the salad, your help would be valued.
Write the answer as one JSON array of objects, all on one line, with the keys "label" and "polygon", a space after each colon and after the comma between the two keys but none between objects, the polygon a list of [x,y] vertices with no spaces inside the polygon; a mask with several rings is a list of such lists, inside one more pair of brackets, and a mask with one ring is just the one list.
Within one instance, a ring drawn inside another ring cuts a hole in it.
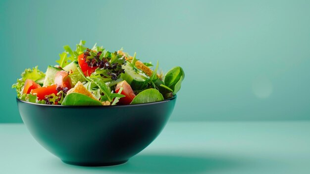
[{"label": "dark-skinned cucumber slice on the right side of the salad", "polygon": [[121,78],[126,80],[133,90],[141,90],[148,85],[150,77],[142,71],[134,71],[129,63],[123,65],[122,68],[125,73],[121,74]]}]

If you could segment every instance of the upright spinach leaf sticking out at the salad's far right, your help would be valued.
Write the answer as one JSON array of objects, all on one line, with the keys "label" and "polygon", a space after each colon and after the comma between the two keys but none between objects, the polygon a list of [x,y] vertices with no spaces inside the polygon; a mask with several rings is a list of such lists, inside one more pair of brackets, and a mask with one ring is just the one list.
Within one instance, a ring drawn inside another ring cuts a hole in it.
[{"label": "upright spinach leaf sticking out at the salad's far right", "polygon": [[180,90],[184,77],[184,71],[180,66],[173,67],[165,74],[164,84],[172,89],[173,95],[175,95]]}]

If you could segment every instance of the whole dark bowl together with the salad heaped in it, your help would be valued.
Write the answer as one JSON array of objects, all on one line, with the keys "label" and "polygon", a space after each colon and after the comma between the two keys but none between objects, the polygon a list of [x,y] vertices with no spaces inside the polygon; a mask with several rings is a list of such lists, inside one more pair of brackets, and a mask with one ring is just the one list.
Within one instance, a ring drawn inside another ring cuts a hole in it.
[{"label": "whole dark bowl together with the salad heaped in it", "polygon": [[85,41],[63,46],[45,72],[26,68],[12,88],[33,137],[64,163],[122,164],[146,148],[171,115],[185,73],[165,74],[123,49],[110,52]]}]

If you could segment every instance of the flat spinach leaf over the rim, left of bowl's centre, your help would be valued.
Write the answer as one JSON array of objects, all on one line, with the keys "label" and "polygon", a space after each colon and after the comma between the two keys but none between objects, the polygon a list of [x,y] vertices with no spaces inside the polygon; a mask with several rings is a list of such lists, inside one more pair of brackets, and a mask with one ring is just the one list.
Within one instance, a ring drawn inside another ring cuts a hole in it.
[{"label": "flat spinach leaf over the rim, left of bowl's centre", "polygon": [[63,99],[61,105],[63,106],[102,106],[102,103],[84,94],[70,93]]}]

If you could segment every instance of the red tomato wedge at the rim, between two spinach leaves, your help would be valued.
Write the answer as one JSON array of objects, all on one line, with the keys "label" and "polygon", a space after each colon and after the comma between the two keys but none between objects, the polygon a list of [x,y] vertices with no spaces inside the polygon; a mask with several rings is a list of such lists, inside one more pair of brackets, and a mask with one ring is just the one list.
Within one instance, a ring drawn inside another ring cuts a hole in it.
[{"label": "red tomato wedge at the rim, between two spinach leaves", "polygon": [[115,93],[118,93],[120,87],[123,87],[121,94],[123,94],[125,97],[120,98],[118,103],[123,105],[129,105],[136,97],[136,95],[132,90],[131,86],[126,82],[126,80],[117,83],[115,87]]}]

